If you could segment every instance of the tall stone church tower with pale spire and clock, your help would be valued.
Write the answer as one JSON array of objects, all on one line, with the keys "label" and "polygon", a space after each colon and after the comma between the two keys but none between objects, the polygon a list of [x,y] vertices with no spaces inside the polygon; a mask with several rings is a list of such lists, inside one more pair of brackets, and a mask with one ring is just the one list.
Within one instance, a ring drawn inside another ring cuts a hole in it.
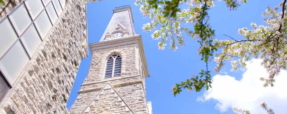
[{"label": "tall stone church tower with pale spire and clock", "polygon": [[89,44],[90,69],[71,114],[152,114],[145,86],[149,72],[131,7],[117,7],[113,13],[100,42]]}]

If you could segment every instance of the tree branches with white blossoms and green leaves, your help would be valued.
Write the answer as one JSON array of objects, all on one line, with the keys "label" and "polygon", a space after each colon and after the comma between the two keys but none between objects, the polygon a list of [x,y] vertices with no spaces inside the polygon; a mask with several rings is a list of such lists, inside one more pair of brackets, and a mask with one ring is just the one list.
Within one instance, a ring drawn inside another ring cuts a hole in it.
[{"label": "tree branches with white blossoms and green leaves", "polygon": [[[218,0],[221,1],[221,0]],[[223,0],[229,10],[236,10],[240,5],[247,3],[247,0]],[[198,51],[201,60],[205,62],[205,70],[201,70],[197,76],[192,76],[185,82],[176,84],[173,94],[176,96],[183,88],[200,91],[203,87],[209,89],[212,79],[208,70],[208,63],[212,60],[217,63],[215,71],[230,61],[233,69],[239,66],[245,67],[246,62],[251,58],[260,58],[261,63],[269,73],[268,78],[260,78],[264,81],[264,87],[274,86],[275,76],[282,69],[286,69],[287,60],[287,38],[286,38],[286,0],[278,6],[271,8],[267,6],[264,21],[267,26],[251,23],[252,29],[240,28],[238,33],[243,39],[232,38],[225,35],[229,40],[215,39],[214,30],[209,23],[208,11],[214,6],[214,0],[136,0],[135,5],[140,6],[144,17],[149,16],[150,23],[143,25],[146,32],[153,31],[153,39],[159,40],[158,49],[163,50],[170,43],[171,50],[177,50],[177,46],[184,46],[182,34],[197,39],[200,44]],[[186,9],[180,9],[181,4],[187,4]],[[190,24],[193,27],[182,25]],[[168,41],[169,40],[169,41]],[[218,51],[217,51],[218,50]],[[262,106],[266,104],[263,103]],[[274,113],[272,109],[262,107],[268,113]],[[239,113],[250,113],[247,110],[237,109]],[[271,114],[270,113],[270,114]]]}]

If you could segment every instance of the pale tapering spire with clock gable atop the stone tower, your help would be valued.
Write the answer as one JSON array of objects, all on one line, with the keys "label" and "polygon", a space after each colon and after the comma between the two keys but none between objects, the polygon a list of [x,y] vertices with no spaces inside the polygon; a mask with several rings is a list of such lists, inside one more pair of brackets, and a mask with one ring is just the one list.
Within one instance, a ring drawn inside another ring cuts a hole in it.
[{"label": "pale tapering spire with clock gable atop the stone tower", "polygon": [[116,7],[100,42],[135,36],[133,15],[129,5]]}]

